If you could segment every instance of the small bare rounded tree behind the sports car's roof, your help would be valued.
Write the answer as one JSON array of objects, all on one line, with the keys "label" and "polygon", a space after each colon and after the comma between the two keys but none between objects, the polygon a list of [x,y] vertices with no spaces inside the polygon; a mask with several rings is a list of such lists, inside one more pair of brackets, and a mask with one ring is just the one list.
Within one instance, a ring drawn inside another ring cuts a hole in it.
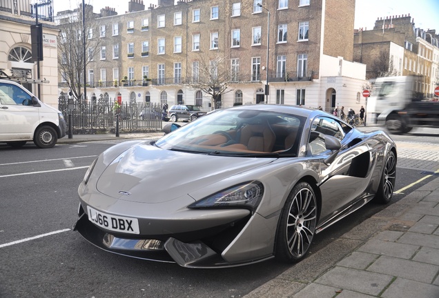
[{"label": "small bare rounded tree behind the sports car's roof", "polygon": [[229,70],[226,61],[224,57],[219,55],[211,60],[205,56],[195,66],[197,69],[193,70],[191,80],[186,82],[192,88],[211,95],[214,107],[222,95],[232,91],[232,89],[228,89],[231,82],[231,70]]}]

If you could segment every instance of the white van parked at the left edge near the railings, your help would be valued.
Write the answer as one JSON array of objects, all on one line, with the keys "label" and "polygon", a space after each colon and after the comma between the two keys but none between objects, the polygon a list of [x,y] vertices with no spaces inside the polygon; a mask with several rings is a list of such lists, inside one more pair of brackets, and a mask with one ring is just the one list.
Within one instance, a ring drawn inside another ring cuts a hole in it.
[{"label": "white van parked at the left edge near the railings", "polygon": [[39,101],[19,83],[0,79],[0,142],[21,147],[33,141],[52,148],[66,136],[63,114]]}]

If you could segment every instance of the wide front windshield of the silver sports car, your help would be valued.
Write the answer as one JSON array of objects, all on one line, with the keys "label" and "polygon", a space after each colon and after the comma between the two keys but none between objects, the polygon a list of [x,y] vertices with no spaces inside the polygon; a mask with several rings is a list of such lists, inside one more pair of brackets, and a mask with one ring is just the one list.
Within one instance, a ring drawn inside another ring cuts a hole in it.
[{"label": "wide front windshield of the silver sports car", "polygon": [[297,156],[305,118],[262,110],[219,110],[175,130],[155,145],[230,156]]}]

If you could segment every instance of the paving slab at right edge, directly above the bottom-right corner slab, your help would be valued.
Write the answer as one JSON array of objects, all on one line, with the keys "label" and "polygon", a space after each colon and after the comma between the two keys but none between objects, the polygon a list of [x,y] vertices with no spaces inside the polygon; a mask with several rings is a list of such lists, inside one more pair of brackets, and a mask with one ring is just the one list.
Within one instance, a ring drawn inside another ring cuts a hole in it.
[{"label": "paving slab at right edge, directly above the bottom-right corner slab", "polygon": [[439,266],[382,256],[367,270],[430,284],[439,272]]}]

